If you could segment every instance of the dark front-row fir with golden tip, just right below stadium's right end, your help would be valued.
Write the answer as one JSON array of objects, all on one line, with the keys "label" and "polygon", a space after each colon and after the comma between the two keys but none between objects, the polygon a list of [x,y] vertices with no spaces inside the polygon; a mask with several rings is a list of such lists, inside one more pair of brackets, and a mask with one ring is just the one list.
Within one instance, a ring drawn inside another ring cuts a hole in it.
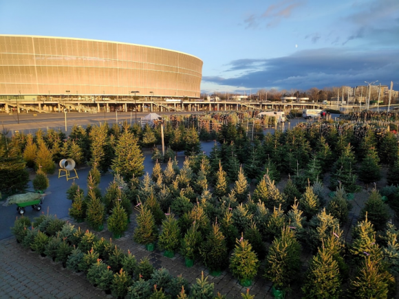
[{"label": "dark front-row fir with golden tip, just right below stadium's right end", "polygon": [[220,271],[226,266],[228,258],[226,238],[220,231],[219,224],[212,225],[211,232],[200,247],[200,255],[204,265],[211,271]]}]

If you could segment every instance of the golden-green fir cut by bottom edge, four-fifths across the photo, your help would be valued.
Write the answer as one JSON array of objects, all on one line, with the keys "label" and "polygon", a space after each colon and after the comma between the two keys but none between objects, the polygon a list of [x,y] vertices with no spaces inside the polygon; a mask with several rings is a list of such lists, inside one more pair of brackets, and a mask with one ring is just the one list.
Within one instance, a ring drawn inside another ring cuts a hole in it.
[{"label": "golden-green fir cut by bottom edge, four-fifths across the photo", "polygon": [[302,291],[303,298],[335,299],[340,297],[341,276],[338,263],[324,247],[319,248],[319,252],[313,257]]}]

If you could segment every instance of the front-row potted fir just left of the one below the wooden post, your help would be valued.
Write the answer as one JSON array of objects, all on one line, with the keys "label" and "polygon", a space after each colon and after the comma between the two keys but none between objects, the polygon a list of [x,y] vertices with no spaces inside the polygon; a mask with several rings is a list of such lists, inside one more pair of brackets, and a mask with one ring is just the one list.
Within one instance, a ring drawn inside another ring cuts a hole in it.
[{"label": "front-row potted fir just left of the one below the wooden post", "polygon": [[139,201],[136,210],[139,214],[136,217],[137,228],[134,230],[133,240],[139,244],[147,245],[155,242],[157,239],[157,228],[153,214],[149,208]]}]

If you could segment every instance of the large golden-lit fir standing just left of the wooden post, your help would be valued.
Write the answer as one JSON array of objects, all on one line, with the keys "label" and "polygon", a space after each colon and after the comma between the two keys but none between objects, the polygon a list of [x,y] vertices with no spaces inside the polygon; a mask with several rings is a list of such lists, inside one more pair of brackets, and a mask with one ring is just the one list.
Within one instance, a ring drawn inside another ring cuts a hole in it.
[{"label": "large golden-lit fir standing just left of the wooden post", "polygon": [[127,129],[120,135],[115,148],[115,159],[112,160],[111,169],[119,173],[126,181],[144,174],[144,157],[137,144],[136,138]]}]

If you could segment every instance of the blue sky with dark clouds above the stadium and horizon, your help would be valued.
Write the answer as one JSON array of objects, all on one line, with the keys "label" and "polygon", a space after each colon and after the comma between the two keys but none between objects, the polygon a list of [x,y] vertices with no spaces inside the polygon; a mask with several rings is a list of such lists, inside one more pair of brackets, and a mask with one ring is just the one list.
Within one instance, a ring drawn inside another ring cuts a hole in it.
[{"label": "blue sky with dark clouds above the stadium and horizon", "polygon": [[204,62],[204,93],[399,89],[398,0],[0,0],[0,34],[151,45]]}]

